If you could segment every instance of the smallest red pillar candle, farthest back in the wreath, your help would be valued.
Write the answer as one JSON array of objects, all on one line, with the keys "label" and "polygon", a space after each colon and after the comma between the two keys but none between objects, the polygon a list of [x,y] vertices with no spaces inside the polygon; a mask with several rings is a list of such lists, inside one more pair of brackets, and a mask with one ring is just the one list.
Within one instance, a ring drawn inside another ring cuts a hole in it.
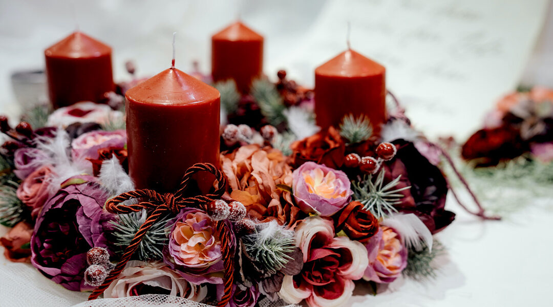
[{"label": "smallest red pillar candle, farthest back in the wreath", "polygon": [[242,93],[263,73],[263,36],[241,22],[229,25],[211,37],[213,81],[233,79]]}]

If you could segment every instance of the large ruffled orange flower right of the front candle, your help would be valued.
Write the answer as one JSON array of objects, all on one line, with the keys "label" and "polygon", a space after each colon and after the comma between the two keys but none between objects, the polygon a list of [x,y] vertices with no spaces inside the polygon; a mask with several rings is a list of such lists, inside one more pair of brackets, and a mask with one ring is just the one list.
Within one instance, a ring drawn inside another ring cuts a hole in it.
[{"label": "large ruffled orange flower right of the front candle", "polygon": [[300,209],[292,202],[292,170],[277,149],[246,145],[221,154],[221,170],[227,178],[230,197],[246,206],[260,221],[276,220],[293,225]]}]

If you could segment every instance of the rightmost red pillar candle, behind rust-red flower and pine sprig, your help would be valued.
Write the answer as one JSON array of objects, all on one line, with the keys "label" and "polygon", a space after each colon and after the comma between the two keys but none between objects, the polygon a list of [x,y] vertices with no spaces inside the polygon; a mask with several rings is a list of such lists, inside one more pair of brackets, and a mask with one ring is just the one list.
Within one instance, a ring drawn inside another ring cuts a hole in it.
[{"label": "rightmost red pillar candle, behind rust-red flower and pine sprig", "polygon": [[315,69],[316,123],[340,125],[345,115],[367,115],[375,133],[385,123],[385,68],[353,50],[346,50]]}]

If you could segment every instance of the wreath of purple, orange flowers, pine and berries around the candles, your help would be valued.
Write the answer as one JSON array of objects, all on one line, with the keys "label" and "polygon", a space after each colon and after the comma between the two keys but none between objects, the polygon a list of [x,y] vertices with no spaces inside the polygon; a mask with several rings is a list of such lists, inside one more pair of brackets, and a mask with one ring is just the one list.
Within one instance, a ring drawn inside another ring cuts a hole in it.
[{"label": "wreath of purple, orange flowers, pine and berries around the candles", "polygon": [[[443,248],[432,235],[455,217],[444,152],[391,94],[378,137],[353,115],[318,130],[312,92],[278,77],[248,95],[215,84],[220,165],[192,166],[174,193],[135,190],[127,174],[126,86],[105,104],[36,107],[15,128],[0,117],[4,255],[92,299],[159,293],[217,306],[342,306],[362,280],[376,293],[401,274],[435,276]],[[209,194],[191,179],[201,171],[215,175]]]}]

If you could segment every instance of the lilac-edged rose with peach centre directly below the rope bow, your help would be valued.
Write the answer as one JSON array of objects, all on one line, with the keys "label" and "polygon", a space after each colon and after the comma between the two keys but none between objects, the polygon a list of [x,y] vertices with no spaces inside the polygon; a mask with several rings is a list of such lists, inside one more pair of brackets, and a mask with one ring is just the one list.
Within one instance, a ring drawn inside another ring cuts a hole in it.
[{"label": "lilac-edged rose with peach centre directly below the rope bow", "polygon": [[204,211],[189,208],[169,223],[173,226],[163,250],[164,262],[191,283],[222,283],[224,267],[215,221]]}]

